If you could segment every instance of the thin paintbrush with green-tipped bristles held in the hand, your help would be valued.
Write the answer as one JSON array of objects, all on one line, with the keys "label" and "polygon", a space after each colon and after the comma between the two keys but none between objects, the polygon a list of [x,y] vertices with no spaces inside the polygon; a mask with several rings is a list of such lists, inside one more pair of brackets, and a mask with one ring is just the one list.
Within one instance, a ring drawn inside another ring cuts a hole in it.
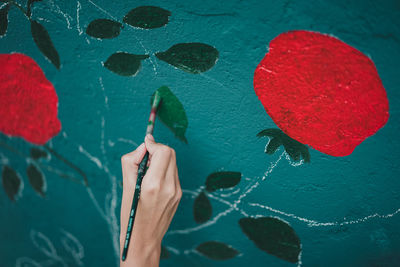
[{"label": "thin paintbrush with green-tipped bristles held in the hand", "polygon": [[[147,124],[146,135],[153,134],[157,108],[160,105],[160,102],[161,102],[161,96],[159,95],[158,90],[157,90],[154,94],[153,103],[151,104],[151,111],[150,111],[149,123]],[[124,250],[122,252],[122,260],[123,261],[125,261],[127,254],[128,254],[129,241],[131,240],[132,229],[133,229],[133,225],[135,223],[135,216],[136,216],[137,205],[139,203],[139,198],[140,198],[140,190],[141,190],[141,186],[142,186],[142,180],[143,180],[144,175],[146,174],[146,170],[147,170],[146,167],[147,167],[148,160],[149,160],[149,152],[146,151],[146,154],[144,155],[142,161],[139,164],[139,168],[138,168],[138,176],[137,176],[137,180],[136,180],[135,193],[133,195],[132,207],[131,207],[131,212],[129,215],[128,229],[126,230],[126,236],[125,236]]]}]

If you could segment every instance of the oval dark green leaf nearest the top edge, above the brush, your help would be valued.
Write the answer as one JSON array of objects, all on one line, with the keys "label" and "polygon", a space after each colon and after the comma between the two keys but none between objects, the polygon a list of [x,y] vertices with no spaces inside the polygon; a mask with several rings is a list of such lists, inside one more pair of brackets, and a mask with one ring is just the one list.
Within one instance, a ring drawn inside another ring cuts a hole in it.
[{"label": "oval dark green leaf nearest the top edge, above the brush", "polygon": [[140,6],[132,9],[124,17],[124,22],[137,28],[154,29],[168,23],[171,12],[156,6]]}]

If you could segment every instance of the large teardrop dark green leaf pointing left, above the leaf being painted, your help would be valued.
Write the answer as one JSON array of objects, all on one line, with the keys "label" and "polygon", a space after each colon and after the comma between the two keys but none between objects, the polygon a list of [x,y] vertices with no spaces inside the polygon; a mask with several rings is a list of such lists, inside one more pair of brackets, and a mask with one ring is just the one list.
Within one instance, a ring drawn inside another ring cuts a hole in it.
[{"label": "large teardrop dark green leaf pointing left, above the leaf being painted", "polygon": [[197,74],[211,69],[219,53],[214,47],[203,43],[176,44],[156,57],[188,73]]}]

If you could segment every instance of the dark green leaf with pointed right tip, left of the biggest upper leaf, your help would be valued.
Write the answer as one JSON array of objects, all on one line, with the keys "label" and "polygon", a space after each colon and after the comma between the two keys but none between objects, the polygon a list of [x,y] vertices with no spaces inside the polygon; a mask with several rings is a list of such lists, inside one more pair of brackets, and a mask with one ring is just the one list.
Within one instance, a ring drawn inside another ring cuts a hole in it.
[{"label": "dark green leaf with pointed right tip, left of the biggest upper leaf", "polygon": [[112,54],[104,67],[121,76],[135,76],[140,69],[140,60],[148,58],[148,55],[134,55],[125,52]]}]

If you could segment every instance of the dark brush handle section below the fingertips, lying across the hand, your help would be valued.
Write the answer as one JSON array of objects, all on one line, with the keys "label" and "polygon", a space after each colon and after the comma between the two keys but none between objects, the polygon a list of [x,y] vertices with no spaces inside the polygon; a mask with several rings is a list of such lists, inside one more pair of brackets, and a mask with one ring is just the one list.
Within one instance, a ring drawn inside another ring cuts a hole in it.
[{"label": "dark brush handle section below the fingertips, lying across the hand", "polygon": [[146,152],[146,154],[144,155],[142,161],[139,164],[139,168],[138,168],[138,176],[136,179],[135,193],[133,195],[132,207],[131,207],[131,212],[129,215],[128,229],[126,230],[126,236],[125,236],[124,250],[122,252],[122,260],[123,261],[125,261],[126,255],[128,253],[129,241],[131,240],[133,224],[135,222],[137,204],[139,203],[139,198],[140,198],[140,190],[141,190],[141,186],[142,186],[142,180],[143,180],[144,175],[146,174],[146,166],[147,166],[148,160],[149,160],[149,152]]}]

